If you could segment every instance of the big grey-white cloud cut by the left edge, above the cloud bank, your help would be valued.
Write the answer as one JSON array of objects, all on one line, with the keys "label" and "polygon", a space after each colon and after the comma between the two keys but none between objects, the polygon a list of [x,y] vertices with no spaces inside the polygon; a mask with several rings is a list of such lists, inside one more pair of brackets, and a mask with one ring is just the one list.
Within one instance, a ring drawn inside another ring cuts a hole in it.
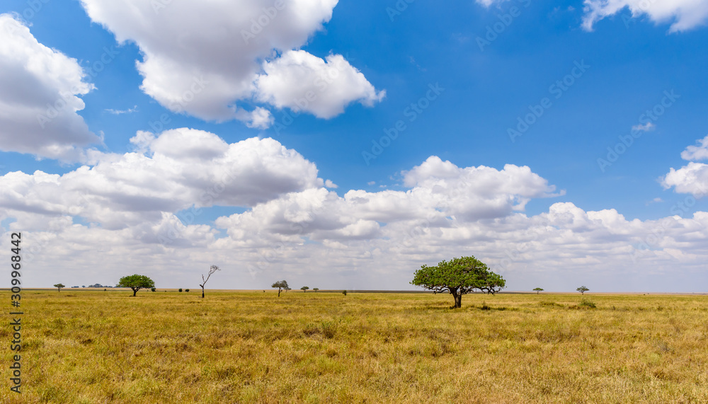
[{"label": "big grey-white cloud cut by the left edge, above the cloud bank", "polygon": [[76,59],[40,44],[27,26],[0,15],[0,150],[80,161],[100,144],[79,98],[93,89]]}]

